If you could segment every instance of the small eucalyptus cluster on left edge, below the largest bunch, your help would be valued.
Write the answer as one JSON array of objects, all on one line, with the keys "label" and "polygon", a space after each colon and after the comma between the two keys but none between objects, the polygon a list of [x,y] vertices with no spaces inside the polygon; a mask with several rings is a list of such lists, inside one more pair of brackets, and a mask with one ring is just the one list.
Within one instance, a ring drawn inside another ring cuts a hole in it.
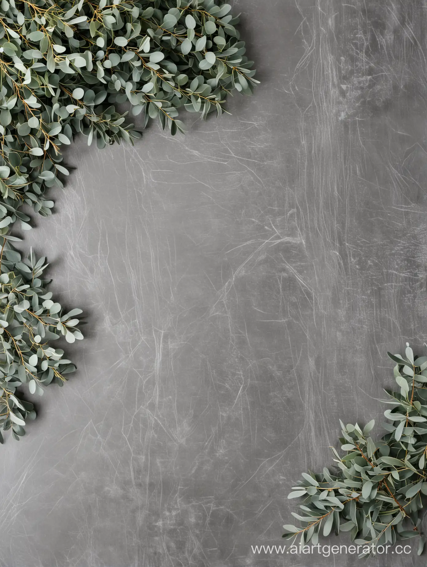
[{"label": "small eucalyptus cluster on left edge, below the largest bunch", "polygon": [[[63,313],[52,300],[49,280],[43,278],[45,258],[28,257],[3,241],[0,256],[0,426],[11,429],[12,437],[24,435],[26,419],[34,419],[33,404],[23,400],[19,388],[27,384],[30,393],[42,395],[45,386],[66,381],[75,366],[64,357],[64,350],[52,341],[67,342],[83,338],[76,316],[81,309]],[[22,389],[22,388],[21,388]],[[0,433],[0,443],[3,436]]]}]

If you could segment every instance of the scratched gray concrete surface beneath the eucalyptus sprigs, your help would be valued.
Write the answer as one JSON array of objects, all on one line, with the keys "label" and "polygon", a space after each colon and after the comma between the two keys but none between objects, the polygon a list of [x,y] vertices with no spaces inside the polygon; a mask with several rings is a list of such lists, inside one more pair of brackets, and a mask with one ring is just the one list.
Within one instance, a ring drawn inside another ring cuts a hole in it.
[{"label": "scratched gray concrete surface beneath the eucalyptus sprigs", "polygon": [[427,2],[236,11],[255,96],[185,138],[78,141],[25,235],[87,339],[1,448],[2,567],[361,565],[251,545],[281,543],[340,417],[381,423],[386,350],[427,350]]}]

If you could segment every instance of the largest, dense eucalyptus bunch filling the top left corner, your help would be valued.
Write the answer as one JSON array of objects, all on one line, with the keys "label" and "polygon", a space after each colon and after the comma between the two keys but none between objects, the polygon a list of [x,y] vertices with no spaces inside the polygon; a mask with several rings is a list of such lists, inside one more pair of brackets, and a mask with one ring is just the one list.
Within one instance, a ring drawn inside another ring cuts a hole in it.
[{"label": "largest, dense eucalyptus bunch filling the top left corner", "polygon": [[257,81],[231,6],[214,0],[2,0],[0,4],[0,234],[26,202],[51,213],[62,146],[74,134],[104,147],[158,119],[184,131],[180,109],[223,112],[227,94]]}]

